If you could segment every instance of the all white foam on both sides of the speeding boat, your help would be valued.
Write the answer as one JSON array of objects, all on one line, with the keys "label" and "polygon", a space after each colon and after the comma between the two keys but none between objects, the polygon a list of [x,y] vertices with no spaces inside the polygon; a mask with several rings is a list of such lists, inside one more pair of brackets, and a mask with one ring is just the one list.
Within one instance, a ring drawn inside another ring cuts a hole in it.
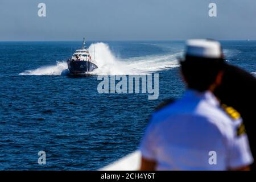
[{"label": "all white foam on both sides of the speeding boat", "polygon": [[[95,60],[98,68],[91,73],[93,75],[139,75],[179,66],[176,57],[180,53],[174,55],[141,56],[118,60],[110,51],[108,44],[105,43],[90,45],[88,49],[93,60],[94,47]],[[28,70],[19,75],[67,75],[68,73],[67,63],[65,61],[56,61],[56,65]]]}]

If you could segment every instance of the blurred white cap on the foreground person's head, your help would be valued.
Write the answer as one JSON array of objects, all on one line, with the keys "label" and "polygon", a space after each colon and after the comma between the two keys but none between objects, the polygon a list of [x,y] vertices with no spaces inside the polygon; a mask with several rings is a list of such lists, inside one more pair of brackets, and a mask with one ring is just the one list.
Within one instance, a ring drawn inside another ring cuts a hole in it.
[{"label": "blurred white cap on the foreground person's head", "polygon": [[222,57],[221,44],[208,39],[187,40],[186,55],[218,59]]}]

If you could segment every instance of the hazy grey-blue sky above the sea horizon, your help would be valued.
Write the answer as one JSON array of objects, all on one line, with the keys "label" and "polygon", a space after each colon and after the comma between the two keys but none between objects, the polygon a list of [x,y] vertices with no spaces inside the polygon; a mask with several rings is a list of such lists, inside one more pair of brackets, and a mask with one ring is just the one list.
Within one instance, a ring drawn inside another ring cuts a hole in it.
[{"label": "hazy grey-blue sky above the sea horizon", "polygon": [[0,23],[0,40],[256,39],[256,1],[0,0]]}]

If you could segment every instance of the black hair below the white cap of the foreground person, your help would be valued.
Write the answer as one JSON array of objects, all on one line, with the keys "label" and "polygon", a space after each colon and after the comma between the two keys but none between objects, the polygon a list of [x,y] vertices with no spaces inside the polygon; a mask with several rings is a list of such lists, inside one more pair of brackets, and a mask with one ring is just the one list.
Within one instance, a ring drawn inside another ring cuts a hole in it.
[{"label": "black hair below the white cap of the foreground person", "polygon": [[216,80],[218,72],[222,70],[224,59],[186,56],[180,61],[181,71],[188,88],[204,92]]}]

